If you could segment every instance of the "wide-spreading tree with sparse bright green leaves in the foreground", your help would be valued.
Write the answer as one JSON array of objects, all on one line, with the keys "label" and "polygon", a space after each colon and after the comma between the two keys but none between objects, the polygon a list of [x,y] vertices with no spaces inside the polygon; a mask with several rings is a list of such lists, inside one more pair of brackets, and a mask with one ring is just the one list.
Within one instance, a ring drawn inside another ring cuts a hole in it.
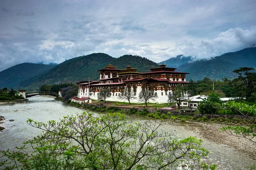
[{"label": "wide-spreading tree with sparse bright green leaves in the foreground", "polygon": [[[125,115],[108,113],[64,117],[59,122],[27,123],[44,130],[18,151],[0,151],[9,161],[6,170],[214,170],[201,162],[209,151],[195,137],[177,141],[171,134],[157,131],[162,120],[132,123]],[[33,150],[27,153],[26,150]],[[24,152],[25,151],[25,152]],[[11,160],[11,161],[10,161]]]}]

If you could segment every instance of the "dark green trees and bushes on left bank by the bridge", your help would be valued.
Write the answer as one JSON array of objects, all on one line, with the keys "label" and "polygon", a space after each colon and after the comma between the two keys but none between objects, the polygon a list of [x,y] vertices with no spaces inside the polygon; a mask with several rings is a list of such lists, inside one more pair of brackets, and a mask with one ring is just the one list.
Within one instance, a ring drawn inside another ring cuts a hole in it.
[{"label": "dark green trees and bushes on left bank by the bridge", "polygon": [[16,94],[14,89],[8,90],[7,87],[0,89],[0,102],[20,101],[23,99],[24,97],[22,95]]}]

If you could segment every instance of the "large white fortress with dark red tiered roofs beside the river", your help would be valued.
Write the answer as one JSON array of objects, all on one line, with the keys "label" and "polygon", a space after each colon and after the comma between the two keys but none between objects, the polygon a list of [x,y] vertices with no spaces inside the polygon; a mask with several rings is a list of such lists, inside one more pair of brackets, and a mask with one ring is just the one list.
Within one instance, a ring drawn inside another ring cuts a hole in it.
[{"label": "large white fortress with dark red tiered roofs beside the river", "polygon": [[[99,69],[99,80],[80,81],[77,101],[87,103],[88,98],[98,99],[101,89],[108,88],[111,97],[108,101],[120,101],[119,96],[126,90],[132,90],[137,99],[131,100],[132,103],[140,103],[138,96],[142,90],[149,90],[158,98],[152,103],[167,103],[168,95],[172,94],[172,88],[181,84],[187,86],[186,72],[175,72],[176,68],[160,67],[151,68],[151,72],[137,72],[137,69],[127,66],[126,69],[116,69],[112,64],[108,64],[104,69]],[[127,102],[127,101],[125,101]]]}]

